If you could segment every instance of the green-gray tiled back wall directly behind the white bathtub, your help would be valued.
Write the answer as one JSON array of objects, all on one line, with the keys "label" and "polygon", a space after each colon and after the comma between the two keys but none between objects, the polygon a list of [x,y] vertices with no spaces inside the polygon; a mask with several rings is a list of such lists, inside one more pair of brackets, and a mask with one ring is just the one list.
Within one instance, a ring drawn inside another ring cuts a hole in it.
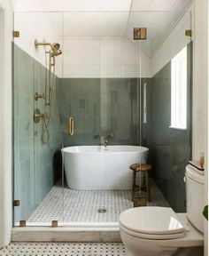
[{"label": "green-gray tiled back wall directly behind the white bathtub", "polygon": [[[97,134],[113,132],[112,145],[135,145],[139,137],[139,79],[64,78],[58,89],[59,114],[65,147],[100,145]],[[145,80],[145,78],[143,79]],[[149,79],[146,79],[149,81]],[[74,135],[67,119],[74,117]]]}]

